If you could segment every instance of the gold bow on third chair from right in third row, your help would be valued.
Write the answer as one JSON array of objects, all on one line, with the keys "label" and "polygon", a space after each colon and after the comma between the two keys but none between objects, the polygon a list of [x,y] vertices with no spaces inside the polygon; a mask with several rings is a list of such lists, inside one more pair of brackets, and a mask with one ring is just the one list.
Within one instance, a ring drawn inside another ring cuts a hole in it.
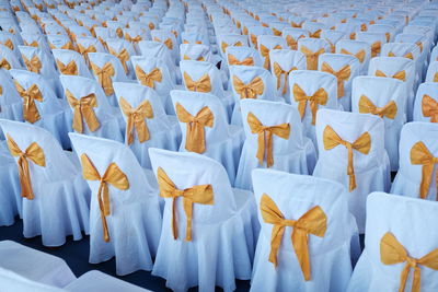
[{"label": "gold bow on third chair from right in third row", "polygon": [[310,110],[312,112],[312,125],[315,125],[318,105],[325,105],[327,103],[327,92],[320,87],[313,95],[308,96],[306,92],[297,84],[293,84],[292,89],[293,98],[298,103],[298,112],[300,113],[301,119],[306,114],[306,106],[310,103]]}]

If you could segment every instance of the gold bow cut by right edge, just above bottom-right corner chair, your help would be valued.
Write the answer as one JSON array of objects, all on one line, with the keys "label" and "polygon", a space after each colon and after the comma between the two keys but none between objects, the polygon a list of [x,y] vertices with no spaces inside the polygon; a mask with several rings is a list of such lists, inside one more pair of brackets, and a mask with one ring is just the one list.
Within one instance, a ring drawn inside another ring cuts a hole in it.
[{"label": "gold bow cut by right edge, just above bottom-right corner chair", "polygon": [[[426,199],[427,192],[429,191],[431,176],[434,174],[434,166],[436,163],[438,163],[438,159],[434,157],[423,142],[416,142],[411,149],[411,163],[414,165],[423,165],[419,197],[422,199]],[[438,173],[435,179],[438,183]]]}]

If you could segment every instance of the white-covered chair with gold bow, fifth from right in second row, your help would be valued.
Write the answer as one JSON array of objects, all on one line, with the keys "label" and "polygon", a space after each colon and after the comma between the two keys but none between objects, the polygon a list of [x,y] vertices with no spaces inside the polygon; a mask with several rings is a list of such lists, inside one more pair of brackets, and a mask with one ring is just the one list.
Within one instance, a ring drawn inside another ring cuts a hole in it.
[{"label": "white-covered chair with gold bow, fifth from right in second row", "polygon": [[159,96],[147,86],[115,82],[114,91],[126,122],[125,144],[141,167],[151,168],[148,149],[177,151],[181,131],[175,116],[168,116]]}]

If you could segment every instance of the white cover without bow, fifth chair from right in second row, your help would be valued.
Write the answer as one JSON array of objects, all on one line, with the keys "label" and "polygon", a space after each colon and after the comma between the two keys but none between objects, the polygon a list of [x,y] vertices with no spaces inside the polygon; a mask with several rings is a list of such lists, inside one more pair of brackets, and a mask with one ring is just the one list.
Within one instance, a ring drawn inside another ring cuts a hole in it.
[{"label": "white cover without bow, fifth chair from right in second row", "polygon": [[[148,101],[153,117],[146,118],[146,126],[149,131],[149,139],[140,142],[137,130],[132,129],[132,143],[128,143],[128,135],[125,132],[125,143],[130,147],[141,167],[151,168],[149,160],[149,148],[160,148],[177,151],[181,142],[181,131],[175,116],[168,116],[164,112],[161,96],[153,90],[140,84],[115,82],[114,91],[118,103],[124,98],[132,109],[136,109],[141,103]],[[122,107],[122,106],[120,106]],[[125,122],[128,117],[123,113]]]}]

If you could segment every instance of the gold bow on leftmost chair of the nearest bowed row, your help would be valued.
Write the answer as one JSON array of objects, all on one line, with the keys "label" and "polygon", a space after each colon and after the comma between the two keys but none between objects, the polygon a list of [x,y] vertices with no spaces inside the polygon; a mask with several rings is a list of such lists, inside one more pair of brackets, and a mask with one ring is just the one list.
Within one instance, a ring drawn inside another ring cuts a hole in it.
[{"label": "gold bow on leftmost chair of the nearest bowed row", "polygon": [[46,156],[44,155],[44,151],[36,142],[33,142],[23,152],[11,136],[7,133],[7,143],[11,155],[19,157],[16,164],[19,165],[21,196],[28,200],[33,200],[35,195],[32,189],[31,173],[28,172],[28,160],[38,166],[45,167]]}]

